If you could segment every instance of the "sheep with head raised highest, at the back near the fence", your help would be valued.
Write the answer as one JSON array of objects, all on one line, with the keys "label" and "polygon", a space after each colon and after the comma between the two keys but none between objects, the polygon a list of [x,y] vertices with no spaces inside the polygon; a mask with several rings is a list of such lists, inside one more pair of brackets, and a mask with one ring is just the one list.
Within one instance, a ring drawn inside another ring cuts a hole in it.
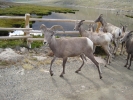
[{"label": "sheep with head raised highest, at the back near the fence", "polygon": [[103,19],[103,14],[101,14],[95,22],[100,22],[103,26],[103,32],[109,32],[113,35],[113,42],[114,42],[114,50],[113,53],[116,54],[116,51],[118,49],[119,45],[119,39],[122,38],[125,35],[126,26],[122,25],[122,28],[119,28],[117,26],[114,26],[110,23],[107,23]]}]

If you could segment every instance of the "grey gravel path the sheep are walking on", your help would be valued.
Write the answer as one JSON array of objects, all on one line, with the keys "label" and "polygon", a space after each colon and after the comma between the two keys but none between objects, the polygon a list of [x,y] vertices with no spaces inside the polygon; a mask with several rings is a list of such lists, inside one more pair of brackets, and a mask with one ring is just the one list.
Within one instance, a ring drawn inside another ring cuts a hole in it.
[{"label": "grey gravel path the sheep are walking on", "polygon": [[68,59],[63,78],[60,60],[53,65],[53,77],[49,63],[35,64],[30,70],[21,64],[0,69],[0,100],[133,100],[133,67],[123,67],[125,56],[116,57],[108,67],[101,64],[102,80],[89,61],[75,73],[80,64],[77,58]]}]

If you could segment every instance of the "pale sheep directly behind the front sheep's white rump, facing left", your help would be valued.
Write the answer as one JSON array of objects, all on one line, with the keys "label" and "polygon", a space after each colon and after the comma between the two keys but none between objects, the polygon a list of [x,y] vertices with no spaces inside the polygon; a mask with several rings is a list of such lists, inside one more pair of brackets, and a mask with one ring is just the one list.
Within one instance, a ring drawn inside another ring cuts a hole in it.
[{"label": "pale sheep directly behind the front sheep's white rump, facing left", "polygon": [[82,26],[84,21],[85,20],[81,20],[80,22],[76,23],[74,30],[79,31],[82,37],[88,37],[90,40],[92,40],[92,42],[94,43],[94,51],[96,46],[102,46],[102,48],[108,55],[107,63],[109,64],[110,58],[112,56],[110,53],[110,47],[109,47],[110,42],[112,40],[112,34],[111,33],[105,34],[103,32],[101,34],[97,34],[96,32],[94,32],[94,29],[93,30],[89,29],[89,31],[84,30]]}]

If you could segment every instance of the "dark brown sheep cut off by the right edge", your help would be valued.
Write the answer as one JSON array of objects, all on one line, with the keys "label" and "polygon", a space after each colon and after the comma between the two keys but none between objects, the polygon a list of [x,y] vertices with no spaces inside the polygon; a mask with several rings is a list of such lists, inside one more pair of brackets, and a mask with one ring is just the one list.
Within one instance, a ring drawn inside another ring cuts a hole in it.
[{"label": "dark brown sheep cut off by the right edge", "polygon": [[128,34],[126,34],[120,41],[121,42],[125,42],[125,45],[126,45],[126,51],[128,53],[127,55],[127,62],[125,64],[124,67],[127,67],[128,65],[128,60],[130,59],[130,64],[129,66],[127,67],[128,69],[130,69],[130,66],[131,66],[131,61],[132,61],[132,58],[133,58],[133,31],[130,31]]}]

